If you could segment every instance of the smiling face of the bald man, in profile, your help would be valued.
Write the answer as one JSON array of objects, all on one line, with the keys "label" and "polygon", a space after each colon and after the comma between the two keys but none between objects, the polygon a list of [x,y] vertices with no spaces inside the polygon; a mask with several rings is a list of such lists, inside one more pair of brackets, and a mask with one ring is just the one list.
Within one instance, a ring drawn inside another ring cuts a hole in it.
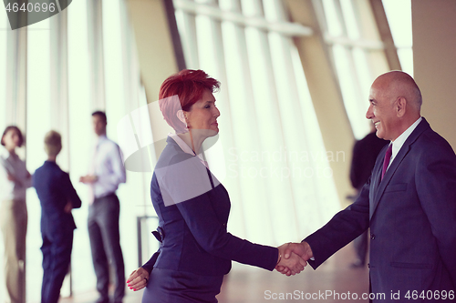
[{"label": "smiling face of the bald man, in profile", "polygon": [[366,117],[377,129],[376,135],[385,140],[394,141],[399,135],[399,117],[396,111],[396,99],[389,94],[387,84],[376,80],[370,87],[370,106]]}]

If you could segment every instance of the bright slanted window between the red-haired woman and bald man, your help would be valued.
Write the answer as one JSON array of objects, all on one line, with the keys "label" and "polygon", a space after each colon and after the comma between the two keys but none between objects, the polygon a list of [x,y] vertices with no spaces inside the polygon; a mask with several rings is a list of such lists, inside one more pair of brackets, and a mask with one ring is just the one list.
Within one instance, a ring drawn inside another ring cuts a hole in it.
[{"label": "bright slanted window between the red-haired woman and bald man", "polygon": [[230,231],[276,245],[324,224],[339,204],[292,42],[312,30],[289,22],[278,0],[173,4],[187,68],[222,83],[221,152],[211,156],[224,163]]}]

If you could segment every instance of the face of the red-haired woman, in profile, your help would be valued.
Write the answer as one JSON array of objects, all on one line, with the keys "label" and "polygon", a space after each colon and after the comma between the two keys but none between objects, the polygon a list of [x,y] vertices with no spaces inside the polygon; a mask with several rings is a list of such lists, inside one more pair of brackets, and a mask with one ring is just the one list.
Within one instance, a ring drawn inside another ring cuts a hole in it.
[{"label": "face of the red-haired woman, in profile", "polygon": [[204,90],[202,99],[192,105],[185,115],[187,126],[192,132],[203,130],[202,134],[206,136],[215,136],[219,133],[217,117],[220,116],[220,111],[215,106],[215,97],[209,89]]}]

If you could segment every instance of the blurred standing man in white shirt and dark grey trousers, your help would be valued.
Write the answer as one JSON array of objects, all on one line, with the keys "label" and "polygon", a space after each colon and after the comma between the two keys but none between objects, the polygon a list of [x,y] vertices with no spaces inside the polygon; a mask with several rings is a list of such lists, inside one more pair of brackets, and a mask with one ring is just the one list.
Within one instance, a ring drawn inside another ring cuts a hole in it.
[{"label": "blurred standing man in white shirt and dark grey trousers", "polygon": [[122,301],[125,293],[125,272],[119,237],[119,198],[116,190],[125,183],[125,167],[119,146],[106,136],[107,118],[101,111],[92,114],[98,136],[93,160],[87,176],[79,181],[90,189],[88,208],[88,237],[93,266],[97,275],[98,303],[109,303],[109,263],[116,278],[114,303]]}]

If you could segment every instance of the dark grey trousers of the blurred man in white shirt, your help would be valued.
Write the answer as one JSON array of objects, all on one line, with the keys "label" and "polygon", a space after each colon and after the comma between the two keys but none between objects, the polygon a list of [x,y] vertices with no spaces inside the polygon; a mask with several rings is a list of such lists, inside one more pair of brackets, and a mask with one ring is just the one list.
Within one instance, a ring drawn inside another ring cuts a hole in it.
[{"label": "dark grey trousers of the blurred man in white shirt", "polygon": [[125,269],[119,236],[119,198],[115,194],[96,198],[88,207],[88,237],[93,267],[97,275],[97,290],[101,302],[109,302],[109,263],[115,271],[114,302],[125,294]]}]

